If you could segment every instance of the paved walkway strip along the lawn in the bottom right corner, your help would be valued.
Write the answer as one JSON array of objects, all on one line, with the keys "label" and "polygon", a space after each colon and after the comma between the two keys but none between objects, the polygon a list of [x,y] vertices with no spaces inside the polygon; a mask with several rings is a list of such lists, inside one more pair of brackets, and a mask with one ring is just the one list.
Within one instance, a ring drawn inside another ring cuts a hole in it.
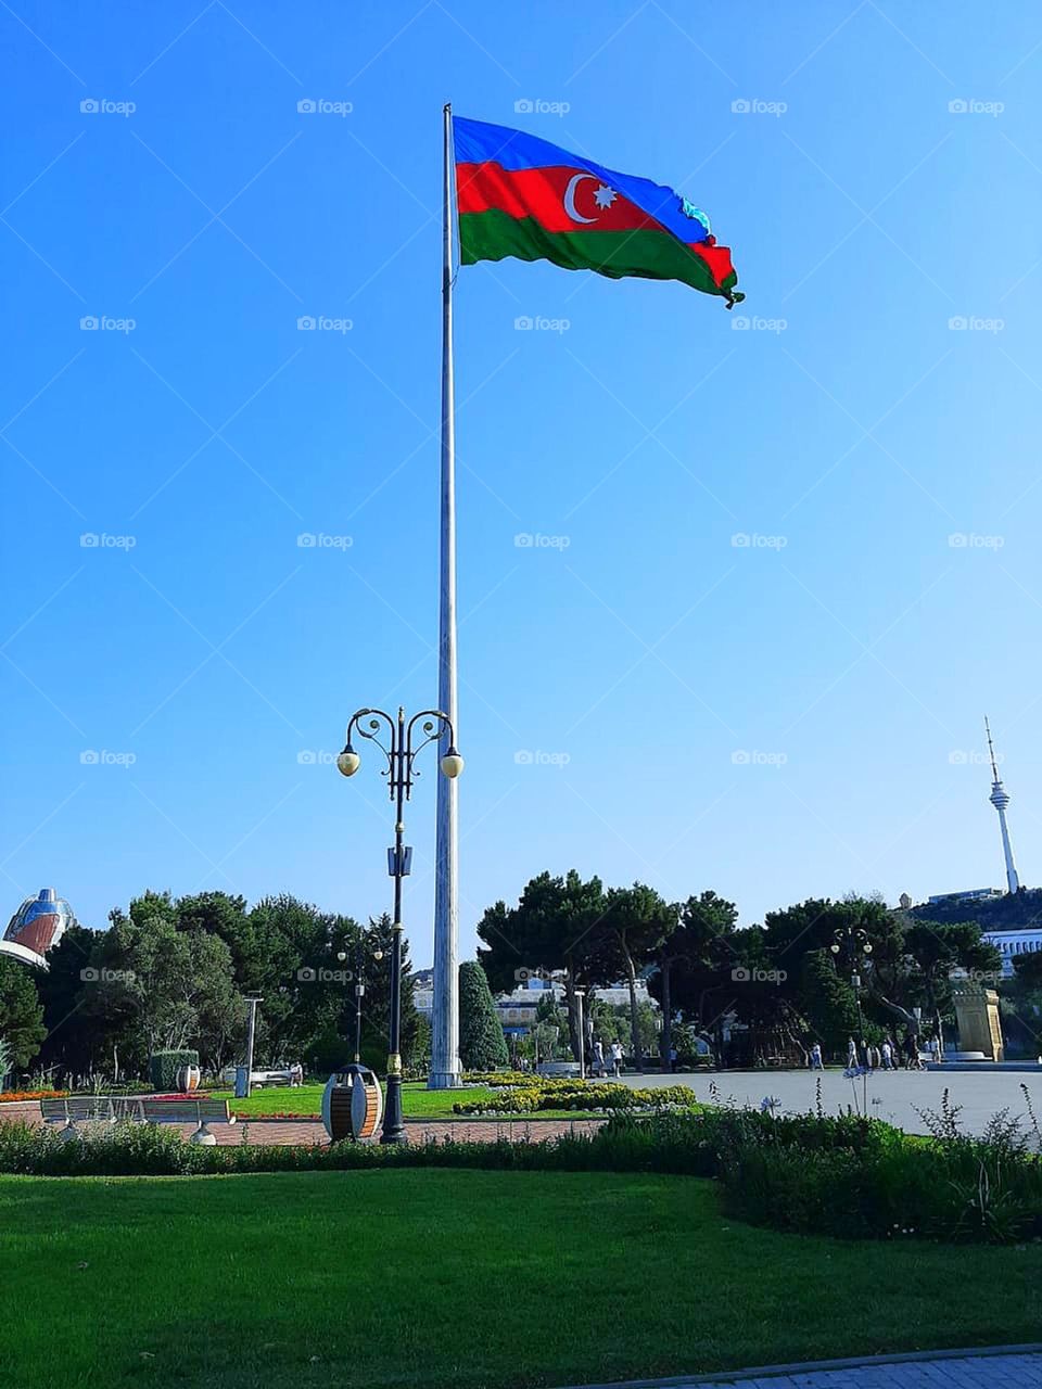
[{"label": "paved walkway strip along the lawn in the bottom right corner", "polygon": [[768,1365],[695,1379],[639,1379],[585,1389],[1039,1389],[1042,1350],[1023,1346],[998,1354],[942,1351],[916,1358],[825,1360],[807,1365]]}]

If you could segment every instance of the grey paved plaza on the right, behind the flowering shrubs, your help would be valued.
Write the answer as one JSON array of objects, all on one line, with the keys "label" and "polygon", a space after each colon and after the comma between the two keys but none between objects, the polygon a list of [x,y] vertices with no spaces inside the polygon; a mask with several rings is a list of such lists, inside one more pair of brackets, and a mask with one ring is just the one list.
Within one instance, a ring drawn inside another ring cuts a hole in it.
[{"label": "grey paved plaza on the right, behind the flowering shrubs", "polygon": [[[829,1071],[697,1071],[678,1075],[625,1075],[627,1085],[689,1085],[700,1100],[710,1100],[716,1085],[722,1100],[757,1106],[766,1096],[781,1100],[781,1113],[806,1113],[816,1104],[816,1081],[821,1081],[821,1100],[827,1114],[864,1097],[863,1081],[843,1079],[843,1072]],[[1031,1103],[1042,1124],[1042,1067],[1032,1071],[875,1071],[868,1076],[868,1113],[895,1124],[909,1133],[925,1133],[917,1110],[938,1110],[945,1088],[952,1103],[961,1104],[960,1122],[970,1133],[981,1133],[998,1110],[1024,1114],[1021,1085],[1028,1086]]]}]

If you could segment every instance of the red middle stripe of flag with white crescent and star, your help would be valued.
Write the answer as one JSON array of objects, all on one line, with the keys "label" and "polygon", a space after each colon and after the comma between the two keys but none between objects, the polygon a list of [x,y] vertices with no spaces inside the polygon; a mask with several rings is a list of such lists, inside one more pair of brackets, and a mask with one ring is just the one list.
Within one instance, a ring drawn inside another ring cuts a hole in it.
[{"label": "red middle stripe of flag with white crescent and star", "polygon": [[610,206],[599,207],[597,196],[602,203],[607,203],[611,192],[595,174],[585,169],[559,167],[510,171],[490,161],[456,165],[460,215],[497,208],[508,217],[532,217],[547,232],[639,229],[670,235],[660,222],[621,193],[614,193]]}]

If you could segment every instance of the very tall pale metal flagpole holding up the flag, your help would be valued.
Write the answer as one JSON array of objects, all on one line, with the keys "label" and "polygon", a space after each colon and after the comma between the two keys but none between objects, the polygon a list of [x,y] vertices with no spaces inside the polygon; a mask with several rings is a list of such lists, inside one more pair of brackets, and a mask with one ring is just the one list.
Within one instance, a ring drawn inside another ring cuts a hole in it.
[{"label": "very tall pale metal flagpole holding up the flag", "polygon": [[[453,382],[453,117],[445,111],[445,188],[442,206],[442,524],[438,633],[438,707],[449,715],[458,743],[456,690],[456,399]],[[461,1083],[458,1013],[458,786],[438,778],[435,846],[433,1013],[428,1088]]]}]

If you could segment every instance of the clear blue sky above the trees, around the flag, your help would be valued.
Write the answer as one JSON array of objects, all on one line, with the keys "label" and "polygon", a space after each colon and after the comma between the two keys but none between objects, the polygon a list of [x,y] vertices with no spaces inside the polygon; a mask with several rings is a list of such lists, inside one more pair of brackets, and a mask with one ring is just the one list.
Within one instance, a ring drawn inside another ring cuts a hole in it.
[{"label": "clear blue sky above the trees, around the flag", "polygon": [[388,904],[375,757],[328,758],[436,700],[445,100],[672,185],[747,293],[460,271],[461,953],[543,868],[746,924],[1000,885],[985,713],[1042,879],[1042,8],[10,0],[0,35],[4,913]]}]

